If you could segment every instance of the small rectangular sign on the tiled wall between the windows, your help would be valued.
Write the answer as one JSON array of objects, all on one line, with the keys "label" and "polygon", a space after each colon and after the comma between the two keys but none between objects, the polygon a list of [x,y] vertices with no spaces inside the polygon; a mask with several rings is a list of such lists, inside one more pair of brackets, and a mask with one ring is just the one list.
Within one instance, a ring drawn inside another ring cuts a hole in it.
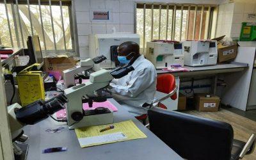
[{"label": "small rectangular sign on the tiled wall between the windows", "polygon": [[112,22],[113,21],[113,15],[112,11],[108,9],[100,9],[100,8],[91,8],[90,9],[90,19],[91,21],[96,22]]}]

